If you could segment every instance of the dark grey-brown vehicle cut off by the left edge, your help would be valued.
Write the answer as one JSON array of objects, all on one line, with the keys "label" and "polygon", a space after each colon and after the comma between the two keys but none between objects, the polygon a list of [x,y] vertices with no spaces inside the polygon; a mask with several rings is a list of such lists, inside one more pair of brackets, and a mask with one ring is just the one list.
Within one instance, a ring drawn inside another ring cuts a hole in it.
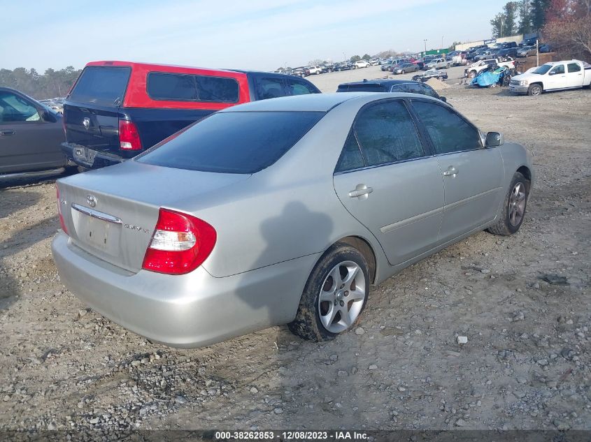
[{"label": "dark grey-brown vehicle cut off by the left edge", "polygon": [[62,115],[10,87],[0,87],[0,178],[64,172]]}]

